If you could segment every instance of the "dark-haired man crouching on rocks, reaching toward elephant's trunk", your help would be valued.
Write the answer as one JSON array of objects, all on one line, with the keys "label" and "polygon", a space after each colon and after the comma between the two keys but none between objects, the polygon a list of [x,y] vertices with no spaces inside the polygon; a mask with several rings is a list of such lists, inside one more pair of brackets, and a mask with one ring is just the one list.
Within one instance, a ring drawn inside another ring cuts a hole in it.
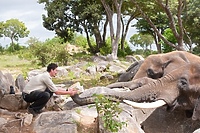
[{"label": "dark-haired man crouching on rocks, reaching toward elephant's trunk", "polygon": [[77,91],[71,89],[66,91],[61,87],[56,87],[52,77],[57,74],[57,64],[51,63],[47,66],[47,72],[38,74],[30,79],[22,92],[23,99],[32,103],[28,107],[28,112],[36,116],[41,113],[42,108],[49,101],[53,93],[57,95],[73,96]]}]

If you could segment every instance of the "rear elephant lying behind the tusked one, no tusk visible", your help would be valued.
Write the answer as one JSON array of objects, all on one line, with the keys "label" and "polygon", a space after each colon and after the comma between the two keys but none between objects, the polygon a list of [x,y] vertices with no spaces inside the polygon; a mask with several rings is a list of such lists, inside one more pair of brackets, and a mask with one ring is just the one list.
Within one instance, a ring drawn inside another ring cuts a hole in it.
[{"label": "rear elephant lying behind the tusked one, no tusk visible", "polygon": [[[179,68],[180,66],[192,62],[200,63],[200,57],[186,51],[173,51],[165,54],[150,55],[141,64],[132,81],[116,82],[109,84],[107,87],[128,87],[130,89],[135,89],[137,88],[136,86],[131,86],[132,82],[135,82],[135,79],[140,79],[143,77],[158,79]],[[138,83],[137,86],[141,86],[146,83],[147,82],[141,82]]]}]

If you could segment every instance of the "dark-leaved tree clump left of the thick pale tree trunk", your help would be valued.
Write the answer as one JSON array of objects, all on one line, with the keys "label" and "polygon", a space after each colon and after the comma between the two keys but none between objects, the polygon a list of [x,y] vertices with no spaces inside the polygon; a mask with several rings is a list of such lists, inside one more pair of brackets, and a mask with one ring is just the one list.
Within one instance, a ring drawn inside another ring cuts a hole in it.
[{"label": "dark-leaved tree clump left of the thick pale tree trunk", "polygon": [[[100,1],[96,0],[39,0],[45,4],[47,16],[43,15],[43,25],[48,30],[54,30],[56,34],[69,41],[69,33],[83,31],[86,33],[88,46],[91,53],[99,52],[105,45],[107,20],[103,24],[105,14]],[[102,28],[103,26],[103,28]],[[101,34],[101,28],[103,33]],[[96,46],[90,42],[90,37],[94,35]]]}]

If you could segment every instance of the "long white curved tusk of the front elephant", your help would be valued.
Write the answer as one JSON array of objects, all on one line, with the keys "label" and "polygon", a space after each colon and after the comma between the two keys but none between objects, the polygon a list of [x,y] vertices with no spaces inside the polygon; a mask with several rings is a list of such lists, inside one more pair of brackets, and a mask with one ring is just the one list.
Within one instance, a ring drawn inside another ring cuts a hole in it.
[{"label": "long white curved tusk of the front elephant", "polygon": [[123,101],[135,108],[158,108],[166,104],[164,100],[157,100],[151,103],[137,103],[130,100],[123,100]]}]

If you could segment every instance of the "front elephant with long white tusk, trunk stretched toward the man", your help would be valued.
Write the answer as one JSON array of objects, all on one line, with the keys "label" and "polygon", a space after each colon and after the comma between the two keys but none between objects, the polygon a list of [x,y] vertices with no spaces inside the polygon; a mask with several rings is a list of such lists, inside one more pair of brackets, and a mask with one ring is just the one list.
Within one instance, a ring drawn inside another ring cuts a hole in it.
[{"label": "front elephant with long white tusk, trunk stretched toward the man", "polygon": [[[157,108],[167,104],[170,110],[179,108],[192,112],[192,119],[197,120],[200,119],[200,63],[186,63],[132,91],[118,92],[107,88],[103,94],[137,108]],[[92,96],[75,95],[72,99],[79,105],[94,103]]]}]

